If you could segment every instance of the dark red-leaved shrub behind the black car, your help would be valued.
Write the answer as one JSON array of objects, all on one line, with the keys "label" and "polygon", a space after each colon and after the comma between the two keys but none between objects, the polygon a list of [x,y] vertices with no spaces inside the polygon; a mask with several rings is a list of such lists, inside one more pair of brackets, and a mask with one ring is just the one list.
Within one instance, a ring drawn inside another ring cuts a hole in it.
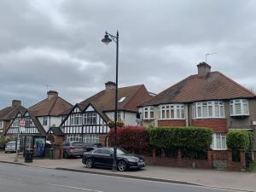
[{"label": "dark red-leaved shrub behind the black car", "polygon": [[[108,143],[114,145],[114,129],[108,132]],[[130,153],[148,154],[150,151],[148,135],[143,126],[123,126],[117,128],[117,143]]]}]

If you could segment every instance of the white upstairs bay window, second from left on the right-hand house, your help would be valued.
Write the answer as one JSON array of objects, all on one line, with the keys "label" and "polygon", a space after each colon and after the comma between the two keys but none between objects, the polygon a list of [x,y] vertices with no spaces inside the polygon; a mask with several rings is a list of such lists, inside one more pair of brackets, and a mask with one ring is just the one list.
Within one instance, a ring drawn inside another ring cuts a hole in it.
[{"label": "white upstairs bay window, second from left on the right-hand house", "polygon": [[160,105],[160,119],[185,119],[184,104],[166,104]]}]

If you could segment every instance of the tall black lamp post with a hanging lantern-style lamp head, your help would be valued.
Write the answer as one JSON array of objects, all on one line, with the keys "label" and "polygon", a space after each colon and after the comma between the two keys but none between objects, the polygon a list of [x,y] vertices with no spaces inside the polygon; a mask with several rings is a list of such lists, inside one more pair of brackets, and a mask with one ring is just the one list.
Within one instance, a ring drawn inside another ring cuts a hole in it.
[{"label": "tall black lamp post with a hanging lantern-style lamp head", "polygon": [[[110,38],[109,38],[110,37]],[[105,33],[102,42],[109,44],[111,41],[116,44],[116,67],[115,67],[115,102],[114,102],[114,146],[113,146],[113,166],[112,171],[117,171],[116,149],[117,149],[117,105],[118,105],[118,80],[119,80],[119,31],[116,32],[116,36]]]}]

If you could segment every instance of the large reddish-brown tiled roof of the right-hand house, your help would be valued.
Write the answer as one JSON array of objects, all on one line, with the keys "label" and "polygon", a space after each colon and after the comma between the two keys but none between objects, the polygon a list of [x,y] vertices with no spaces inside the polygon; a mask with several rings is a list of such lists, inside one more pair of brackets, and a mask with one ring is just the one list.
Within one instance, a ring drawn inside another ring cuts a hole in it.
[{"label": "large reddish-brown tiled roof of the right-hand house", "polygon": [[163,103],[197,102],[225,100],[233,98],[252,98],[256,96],[241,84],[219,72],[208,73],[206,77],[191,75],[172,87],[160,92],[140,106]]}]

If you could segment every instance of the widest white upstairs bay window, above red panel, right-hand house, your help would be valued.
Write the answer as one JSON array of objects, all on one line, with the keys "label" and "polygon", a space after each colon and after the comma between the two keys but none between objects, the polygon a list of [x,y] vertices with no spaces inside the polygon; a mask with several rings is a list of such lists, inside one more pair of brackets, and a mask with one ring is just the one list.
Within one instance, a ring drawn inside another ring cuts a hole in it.
[{"label": "widest white upstairs bay window, above red panel, right-hand house", "polygon": [[194,102],[192,105],[193,119],[224,119],[223,101]]}]

